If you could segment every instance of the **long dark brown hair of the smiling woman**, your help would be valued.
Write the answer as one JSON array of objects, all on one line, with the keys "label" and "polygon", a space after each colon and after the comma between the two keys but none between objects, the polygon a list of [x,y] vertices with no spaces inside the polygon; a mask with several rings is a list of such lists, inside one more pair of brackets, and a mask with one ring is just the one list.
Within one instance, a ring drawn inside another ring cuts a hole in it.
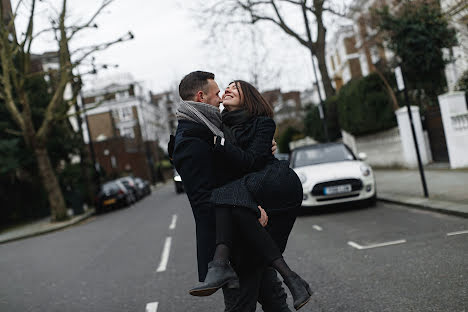
[{"label": "long dark brown hair of the smiling woman", "polygon": [[273,106],[258,92],[257,88],[244,80],[234,80],[233,82],[239,90],[242,105],[251,116],[273,118]]}]

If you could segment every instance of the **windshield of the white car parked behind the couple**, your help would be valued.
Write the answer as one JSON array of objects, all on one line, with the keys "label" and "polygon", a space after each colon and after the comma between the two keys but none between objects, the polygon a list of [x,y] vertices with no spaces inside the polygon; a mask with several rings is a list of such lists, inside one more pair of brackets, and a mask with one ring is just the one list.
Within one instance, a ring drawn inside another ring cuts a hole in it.
[{"label": "windshield of the white car parked behind the couple", "polygon": [[295,151],[293,167],[354,159],[356,159],[354,155],[344,145],[318,145]]}]

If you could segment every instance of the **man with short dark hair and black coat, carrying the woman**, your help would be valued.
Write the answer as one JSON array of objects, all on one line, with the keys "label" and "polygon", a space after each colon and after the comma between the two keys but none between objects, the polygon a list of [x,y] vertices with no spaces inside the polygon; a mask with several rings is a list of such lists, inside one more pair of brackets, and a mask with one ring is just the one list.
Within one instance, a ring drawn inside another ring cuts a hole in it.
[{"label": "man with short dark hair and black coat, carrying the woman", "polygon": [[[211,105],[211,108],[200,105],[200,109],[204,110],[206,118],[220,125],[219,114],[214,114],[213,109],[218,109],[221,103],[219,92],[214,74],[207,72],[192,72],[179,85],[179,94],[184,101]],[[190,120],[179,120],[173,161],[192,206],[196,224],[199,280],[203,281],[216,247],[215,207],[209,199],[213,189],[227,182],[225,168],[228,164],[215,157],[210,129]],[[266,218],[266,214],[262,214],[259,221],[265,224]],[[236,255],[242,257],[243,248],[234,250]],[[240,280],[240,288],[223,288],[226,311],[253,312],[257,299],[265,312],[290,311],[276,271],[271,268],[265,270],[260,260],[254,266],[247,266],[242,264],[241,259],[234,268]]]}]

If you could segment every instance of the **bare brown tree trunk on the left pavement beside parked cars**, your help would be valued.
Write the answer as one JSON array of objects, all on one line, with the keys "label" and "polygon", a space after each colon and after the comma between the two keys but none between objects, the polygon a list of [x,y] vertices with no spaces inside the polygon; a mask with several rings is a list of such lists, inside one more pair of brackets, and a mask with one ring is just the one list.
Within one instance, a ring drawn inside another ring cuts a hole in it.
[{"label": "bare brown tree trunk on the left pavement beside parked cars", "polygon": [[34,146],[34,153],[36,154],[42,183],[44,183],[44,187],[49,198],[51,221],[58,222],[67,220],[67,206],[65,204],[57,176],[55,175],[52,164],[50,163],[49,153],[45,146],[40,144]]}]

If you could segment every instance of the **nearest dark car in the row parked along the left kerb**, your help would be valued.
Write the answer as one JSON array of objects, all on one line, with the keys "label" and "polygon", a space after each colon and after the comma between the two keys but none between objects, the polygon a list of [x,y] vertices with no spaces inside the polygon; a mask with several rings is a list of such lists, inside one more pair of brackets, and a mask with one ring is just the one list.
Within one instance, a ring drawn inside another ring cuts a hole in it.
[{"label": "nearest dark car in the row parked along the left kerb", "polygon": [[121,208],[135,202],[133,193],[120,181],[114,180],[101,185],[96,196],[96,210],[98,213],[114,208]]}]

